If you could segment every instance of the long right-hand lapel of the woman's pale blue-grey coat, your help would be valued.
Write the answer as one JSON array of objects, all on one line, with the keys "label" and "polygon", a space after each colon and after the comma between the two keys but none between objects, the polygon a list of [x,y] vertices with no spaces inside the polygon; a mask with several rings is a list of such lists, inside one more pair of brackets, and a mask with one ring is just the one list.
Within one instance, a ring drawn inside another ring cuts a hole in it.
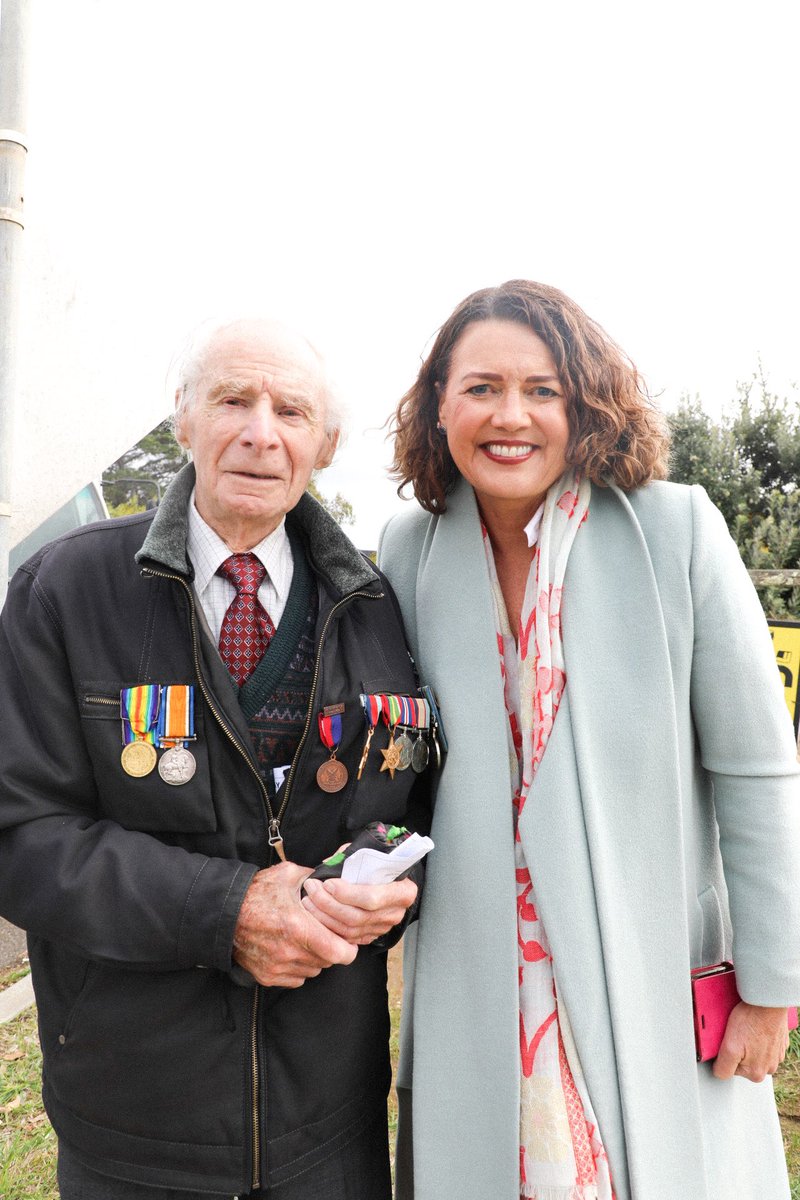
[{"label": "long right-hand lapel of the woman's pale blue-grey coat", "polygon": [[567,688],[521,835],[618,1195],[664,1180],[680,1194],[678,1171],[703,1200],[673,680],[650,556],[615,490],[593,490],[563,623]]}]

